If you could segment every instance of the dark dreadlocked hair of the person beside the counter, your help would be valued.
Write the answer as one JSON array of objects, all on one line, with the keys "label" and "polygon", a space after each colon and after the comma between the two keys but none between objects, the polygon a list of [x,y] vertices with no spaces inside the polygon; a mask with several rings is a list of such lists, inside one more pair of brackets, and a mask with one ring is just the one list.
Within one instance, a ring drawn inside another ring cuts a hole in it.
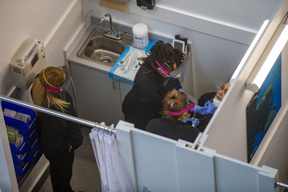
[{"label": "dark dreadlocked hair of the person beside the counter", "polygon": [[176,68],[179,67],[182,60],[184,59],[183,52],[179,49],[174,49],[170,43],[164,43],[163,41],[157,41],[150,49],[150,54],[146,53],[147,57],[138,58],[143,61],[139,64],[141,67],[150,67],[148,72],[157,71],[159,66],[156,60],[166,69],[167,71],[173,71],[173,64],[176,63]]}]

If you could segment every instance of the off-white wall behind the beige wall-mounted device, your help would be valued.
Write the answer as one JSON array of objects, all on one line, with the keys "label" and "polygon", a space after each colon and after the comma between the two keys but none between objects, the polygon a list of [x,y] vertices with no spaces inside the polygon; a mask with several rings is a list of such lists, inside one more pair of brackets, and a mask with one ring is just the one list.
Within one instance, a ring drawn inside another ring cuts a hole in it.
[{"label": "off-white wall behind the beige wall-mounted device", "polygon": [[81,0],[1,1],[0,94],[14,89],[9,63],[27,37],[44,42],[48,66],[65,64],[63,49],[84,26],[82,9]]}]

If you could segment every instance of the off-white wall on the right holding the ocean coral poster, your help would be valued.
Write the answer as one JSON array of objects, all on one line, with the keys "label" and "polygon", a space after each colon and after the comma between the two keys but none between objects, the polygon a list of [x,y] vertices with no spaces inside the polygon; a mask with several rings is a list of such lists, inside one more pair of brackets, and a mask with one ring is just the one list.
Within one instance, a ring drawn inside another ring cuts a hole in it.
[{"label": "off-white wall on the right holding the ocean coral poster", "polygon": [[[245,89],[245,83],[258,60],[263,60],[270,52],[265,48],[270,46],[268,43],[278,25],[282,22],[287,10],[288,0],[285,0],[279,10],[277,8],[277,12],[275,12],[271,22],[268,23],[263,37],[256,44],[255,50],[243,66],[235,84],[231,85],[226,97],[222,100],[204,131],[203,134],[208,135],[204,147],[214,149],[219,154],[247,162],[246,107],[254,93]],[[288,146],[287,55],[288,43],[282,50],[282,106],[250,162],[253,165],[267,165],[278,169],[282,181],[285,181],[288,176],[288,155],[285,148]],[[261,56],[263,57],[260,58]]]}]

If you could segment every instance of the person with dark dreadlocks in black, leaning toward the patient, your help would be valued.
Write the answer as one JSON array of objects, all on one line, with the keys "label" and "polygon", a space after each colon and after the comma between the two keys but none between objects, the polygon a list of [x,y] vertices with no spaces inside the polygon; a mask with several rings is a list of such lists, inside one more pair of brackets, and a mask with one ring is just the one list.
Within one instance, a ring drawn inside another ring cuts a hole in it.
[{"label": "person with dark dreadlocks in black, leaning toward the patient", "polygon": [[161,117],[161,102],[167,92],[181,88],[177,78],[171,78],[165,86],[163,85],[166,74],[157,62],[170,73],[179,67],[184,56],[182,51],[174,49],[170,43],[157,41],[147,57],[138,59],[143,63],[139,64],[141,67],[134,78],[132,89],[123,101],[122,111],[125,121],[145,130],[152,118]]}]

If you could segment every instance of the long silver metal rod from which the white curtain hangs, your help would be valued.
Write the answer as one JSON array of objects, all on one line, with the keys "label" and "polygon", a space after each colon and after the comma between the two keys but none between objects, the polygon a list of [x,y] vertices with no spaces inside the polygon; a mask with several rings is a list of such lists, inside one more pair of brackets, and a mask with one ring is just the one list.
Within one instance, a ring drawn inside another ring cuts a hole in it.
[{"label": "long silver metal rod from which the white curtain hangs", "polygon": [[95,123],[93,121],[88,121],[88,120],[85,120],[85,119],[81,119],[79,117],[74,117],[72,115],[66,115],[66,114],[60,113],[58,111],[53,111],[51,109],[40,107],[38,105],[34,105],[34,104],[31,104],[31,103],[28,103],[28,102],[24,102],[24,101],[21,101],[21,100],[13,99],[13,98],[10,98],[10,97],[4,96],[4,95],[0,95],[0,99],[4,100],[4,101],[7,101],[7,102],[11,102],[11,103],[14,103],[14,104],[21,105],[23,107],[34,109],[36,111],[40,111],[40,112],[43,112],[43,113],[46,113],[46,114],[49,114],[49,115],[53,115],[55,117],[60,117],[62,119],[67,119],[69,121],[73,121],[75,123],[79,123],[79,124],[82,124],[82,125],[85,125],[85,126],[88,126],[88,127],[99,128],[99,129],[107,130],[109,132],[116,133],[115,128],[110,128],[108,126],[103,126],[103,125],[100,125],[100,124]]}]

